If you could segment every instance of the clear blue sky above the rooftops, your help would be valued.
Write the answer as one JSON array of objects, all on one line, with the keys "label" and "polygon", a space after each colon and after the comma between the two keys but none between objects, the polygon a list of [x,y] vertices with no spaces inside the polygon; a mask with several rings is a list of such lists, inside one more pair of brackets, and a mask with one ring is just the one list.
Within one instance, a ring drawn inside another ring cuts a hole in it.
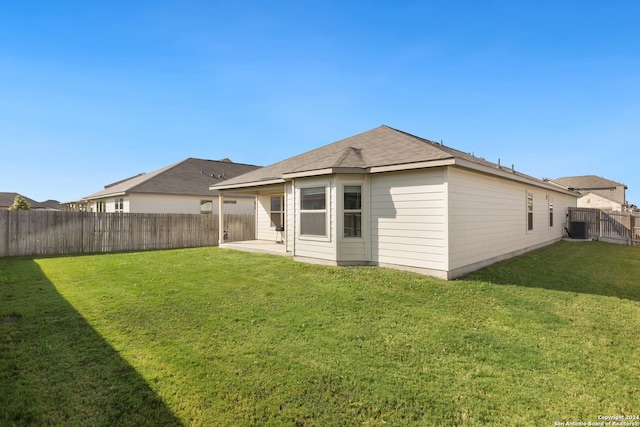
[{"label": "clear blue sky above the rooftops", "polygon": [[76,200],[386,124],[640,204],[638,22],[638,1],[2,2],[0,191]]}]

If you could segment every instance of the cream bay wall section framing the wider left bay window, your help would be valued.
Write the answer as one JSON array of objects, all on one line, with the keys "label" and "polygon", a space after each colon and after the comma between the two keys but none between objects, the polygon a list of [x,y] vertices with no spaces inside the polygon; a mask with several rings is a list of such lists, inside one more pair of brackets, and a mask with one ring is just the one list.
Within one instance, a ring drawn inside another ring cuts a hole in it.
[{"label": "cream bay wall section framing the wider left bay window", "polygon": [[[336,182],[337,177],[296,179],[294,181],[296,224],[295,230],[295,250],[294,256],[303,258],[314,258],[325,261],[337,260],[336,245]],[[326,212],[329,217],[327,225],[327,236],[311,237],[300,235],[300,189],[304,187],[324,186],[329,192]]]}]

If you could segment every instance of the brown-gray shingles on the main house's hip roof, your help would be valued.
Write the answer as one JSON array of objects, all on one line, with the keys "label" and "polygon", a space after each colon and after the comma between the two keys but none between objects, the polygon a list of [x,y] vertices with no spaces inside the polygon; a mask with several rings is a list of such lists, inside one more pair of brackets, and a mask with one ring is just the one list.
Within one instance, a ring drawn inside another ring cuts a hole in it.
[{"label": "brown-gray shingles on the main house's hip roof", "polygon": [[[286,174],[327,168],[361,168],[364,170],[446,159],[464,159],[496,170],[511,171],[510,168],[500,167],[469,153],[383,125],[229,179],[220,185],[225,187],[236,184],[239,186],[243,184],[257,185],[260,182],[283,179]],[[518,174],[521,177],[540,181],[537,178]]]}]

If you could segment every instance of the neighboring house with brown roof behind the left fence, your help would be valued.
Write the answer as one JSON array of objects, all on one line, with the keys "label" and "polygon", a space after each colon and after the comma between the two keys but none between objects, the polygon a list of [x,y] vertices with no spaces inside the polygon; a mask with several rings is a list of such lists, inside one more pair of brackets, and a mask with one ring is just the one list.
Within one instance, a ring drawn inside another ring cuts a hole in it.
[{"label": "neighboring house with brown roof behind the left fence", "polygon": [[[109,184],[83,201],[90,212],[217,213],[218,194],[209,187],[258,168],[229,159],[188,158],[154,172]],[[226,213],[255,212],[253,197],[238,195],[229,197],[225,203]]]}]

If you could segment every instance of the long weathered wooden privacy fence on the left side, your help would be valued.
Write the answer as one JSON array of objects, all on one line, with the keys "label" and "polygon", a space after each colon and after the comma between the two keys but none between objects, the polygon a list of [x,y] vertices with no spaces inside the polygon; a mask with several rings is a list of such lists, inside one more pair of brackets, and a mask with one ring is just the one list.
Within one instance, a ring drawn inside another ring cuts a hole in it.
[{"label": "long weathered wooden privacy fence on the left side", "polygon": [[[225,215],[227,241],[255,238],[255,216]],[[0,211],[0,257],[218,244],[218,215]]]}]

